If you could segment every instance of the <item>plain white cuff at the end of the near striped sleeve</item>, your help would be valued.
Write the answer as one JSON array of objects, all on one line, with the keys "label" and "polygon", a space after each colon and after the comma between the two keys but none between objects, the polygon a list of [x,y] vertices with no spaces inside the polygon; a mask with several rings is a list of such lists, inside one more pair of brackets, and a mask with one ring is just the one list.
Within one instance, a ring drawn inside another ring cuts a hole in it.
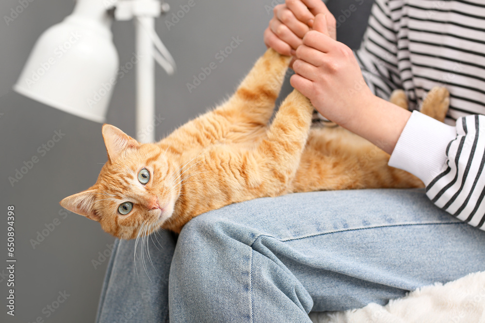
[{"label": "plain white cuff at the end of the near striped sleeve", "polygon": [[446,166],[446,148],[455,138],[455,127],[413,111],[388,165],[404,169],[428,185]]}]

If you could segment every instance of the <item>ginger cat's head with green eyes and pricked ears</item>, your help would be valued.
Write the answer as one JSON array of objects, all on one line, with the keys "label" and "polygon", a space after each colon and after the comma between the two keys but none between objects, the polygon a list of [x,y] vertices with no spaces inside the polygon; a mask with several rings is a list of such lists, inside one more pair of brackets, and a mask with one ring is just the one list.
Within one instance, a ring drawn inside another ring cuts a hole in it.
[{"label": "ginger cat's head with green eyes and pricked ears", "polygon": [[108,162],[96,184],[61,205],[120,239],[158,230],[170,221],[180,194],[178,172],[155,144],[140,144],[111,125],[103,126],[103,137]]}]

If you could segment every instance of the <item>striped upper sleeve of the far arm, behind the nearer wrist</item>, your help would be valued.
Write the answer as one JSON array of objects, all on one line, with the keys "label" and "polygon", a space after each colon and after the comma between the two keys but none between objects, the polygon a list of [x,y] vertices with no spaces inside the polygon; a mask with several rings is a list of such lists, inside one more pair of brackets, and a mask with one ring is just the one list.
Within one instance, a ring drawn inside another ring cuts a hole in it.
[{"label": "striped upper sleeve of the far arm, behind the nearer wrist", "polygon": [[371,91],[384,99],[401,88],[396,44],[397,34],[387,1],[376,0],[364,38],[354,55]]}]

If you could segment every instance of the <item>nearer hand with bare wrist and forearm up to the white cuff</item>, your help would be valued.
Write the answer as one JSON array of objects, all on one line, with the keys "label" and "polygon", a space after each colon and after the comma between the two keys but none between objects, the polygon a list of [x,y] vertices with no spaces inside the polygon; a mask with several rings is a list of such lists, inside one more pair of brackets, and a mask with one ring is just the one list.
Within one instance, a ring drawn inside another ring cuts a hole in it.
[{"label": "nearer hand with bare wrist and forearm up to the white cuff", "polygon": [[329,120],[370,140],[389,154],[411,112],[375,96],[362,77],[352,50],[329,36],[326,16],[296,50],[291,85]]}]

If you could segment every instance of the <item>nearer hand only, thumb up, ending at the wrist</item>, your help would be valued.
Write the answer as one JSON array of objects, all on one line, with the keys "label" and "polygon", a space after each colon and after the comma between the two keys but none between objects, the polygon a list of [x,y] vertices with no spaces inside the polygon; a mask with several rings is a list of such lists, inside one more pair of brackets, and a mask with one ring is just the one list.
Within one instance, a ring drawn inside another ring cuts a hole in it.
[{"label": "nearer hand only, thumb up, ending at the wrist", "polygon": [[323,116],[344,127],[374,96],[352,50],[328,35],[326,15],[317,15],[314,30],[305,34],[293,70],[291,85]]}]

